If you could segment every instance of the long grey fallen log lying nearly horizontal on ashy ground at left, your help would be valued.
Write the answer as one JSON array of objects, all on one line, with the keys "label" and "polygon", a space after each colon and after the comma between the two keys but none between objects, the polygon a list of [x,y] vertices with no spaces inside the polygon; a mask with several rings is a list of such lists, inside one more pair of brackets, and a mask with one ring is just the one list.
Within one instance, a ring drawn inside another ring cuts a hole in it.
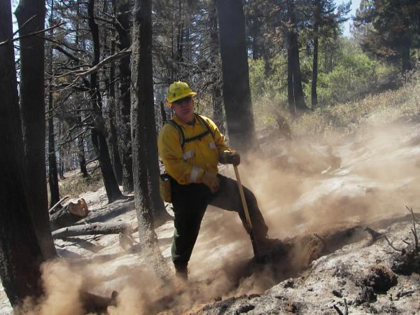
[{"label": "long grey fallen log lying nearly horizontal on ashy ground at left", "polygon": [[75,237],[80,235],[109,235],[109,234],[132,234],[132,226],[128,223],[90,223],[73,225],[52,232],[53,239]]}]

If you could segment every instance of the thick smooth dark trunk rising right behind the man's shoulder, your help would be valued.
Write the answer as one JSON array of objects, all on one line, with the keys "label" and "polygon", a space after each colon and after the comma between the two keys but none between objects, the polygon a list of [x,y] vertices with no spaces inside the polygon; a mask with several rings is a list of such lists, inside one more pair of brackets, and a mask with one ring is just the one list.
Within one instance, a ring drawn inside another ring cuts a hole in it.
[{"label": "thick smooth dark trunk rising right behind the man's shoulder", "polygon": [[230,146],[246,151],[255,144],[255,125],[249,90],[244,8],[241,0],[216,0],[216,7]]}]

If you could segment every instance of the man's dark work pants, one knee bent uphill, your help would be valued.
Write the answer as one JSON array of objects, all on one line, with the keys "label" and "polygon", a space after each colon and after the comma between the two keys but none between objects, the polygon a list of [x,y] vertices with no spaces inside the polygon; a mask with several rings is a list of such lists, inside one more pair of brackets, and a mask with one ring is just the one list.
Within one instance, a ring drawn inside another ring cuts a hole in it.
[{"label": "man's dark work pants, one knee bent uphill", "polygon": [[[237,181],[221,174],[217,176],[221,180],[221,186],[215,194],[212,194],[209,188],[202,183],[180,185],[174,179],[171,181],[172,205],[175,214],[172,261],[175,266],[188,265],[188,260],[190,260],[200,231],[202,218],[209,204],[228,211],[237,211],[244,228],[248,232],[248,224],[246,223]],[[259,239],[267,237],[268,228],[251,190],[244,187],[244,195],[253,233],[258,242]]]}]

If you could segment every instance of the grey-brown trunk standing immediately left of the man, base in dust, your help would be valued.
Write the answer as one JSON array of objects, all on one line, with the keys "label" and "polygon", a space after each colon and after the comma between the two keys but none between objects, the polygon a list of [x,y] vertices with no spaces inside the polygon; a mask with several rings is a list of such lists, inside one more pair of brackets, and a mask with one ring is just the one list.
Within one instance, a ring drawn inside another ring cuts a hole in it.
[{"label": "grey-brown trunk standing immediately left of the man, base in dust", "polygon": [[152,6],[151,0],[136,0],[133,11],[132,39],[132,152],[134,174],[134,203],[139,221],[140,244],[155,273],[167,277],[167,265],[160,253],[153,230],[153,215],[148,192],[148,157],[146,147],[146,107],[153,106],[152,71]]}]

